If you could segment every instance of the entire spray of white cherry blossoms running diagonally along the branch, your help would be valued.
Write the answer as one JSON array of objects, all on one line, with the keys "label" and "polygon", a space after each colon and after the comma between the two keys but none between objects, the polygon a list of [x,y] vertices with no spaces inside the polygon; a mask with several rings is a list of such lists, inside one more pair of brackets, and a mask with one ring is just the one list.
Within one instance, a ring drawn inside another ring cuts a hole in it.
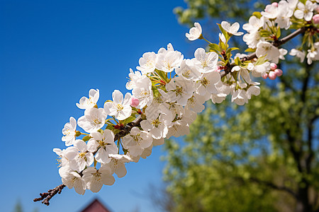
[{"label": "entire spray of white cherry blossoms running diagonally along the branch", "polygon": [[[318,3],[318,0],[316,1]],[[318,4],[315,1],[280,1],[268,5],[262,13],[254,13],[243,25],[247,34],[243,40],[254,52],[235,54],[228,42],[238,32],[239,23],[219,24],[219,43],[209,42],[209,52],[198,48],[194,58],[185,59],[172,44],[157,53],[146,52],[138,61],[137,71],[130,69],[126,88],[129,93],[114,90],[112,100],[99,108],[99,90],[89,90],[89,97],[77,103],[84,115],[69,118],[62,129],[66,149],[55,148],[59,156],[62,183],[78,194],[89,189],[99,192],[103,184],[112,185],[113,175],[126,175],[125,163],[138,162],[152,153],[153,146],[164,139],[189,133],[196,114],[204,103],[220,103],[231,95],[231,101],[244,105],[259,95],[259,83],[254,78],[274,80],[283,72],[277,69],[279,59],[285,59],[287,50],[279,48],[281,28],[307,28],[300,49],[290,54],[308,64],[319,59]],[[186,33],[189,40],[204,39],[199,23]],[[303,50],[301,50],[303,49]],[[307,49],[307,56],[304,49]],[[81,129],[79,129],[81,128]],[[79,129],[79,130],[78,130]]]}]

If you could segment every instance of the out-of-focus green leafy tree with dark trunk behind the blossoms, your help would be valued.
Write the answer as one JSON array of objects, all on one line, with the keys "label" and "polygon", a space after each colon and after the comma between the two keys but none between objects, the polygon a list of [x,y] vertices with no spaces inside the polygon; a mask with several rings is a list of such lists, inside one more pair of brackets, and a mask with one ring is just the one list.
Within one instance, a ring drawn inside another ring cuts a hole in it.
[{"label": "out-of-focus green leafy tree with dark trunk behind the blossoms", "polygon": [[[174,10],[180,23],[247,22],[271,1],[186,3]],[[169,211],[319,211],[318,63],[280,66],[284,75],[262,82],[249,104],[207,104],[183,141],[166,141]]]}]

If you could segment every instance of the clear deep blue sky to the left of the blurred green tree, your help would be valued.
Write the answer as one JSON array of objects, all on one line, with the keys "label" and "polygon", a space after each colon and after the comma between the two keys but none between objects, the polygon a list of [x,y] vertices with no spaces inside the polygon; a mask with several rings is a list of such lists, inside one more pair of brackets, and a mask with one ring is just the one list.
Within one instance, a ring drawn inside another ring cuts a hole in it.
[{"label": "clear deep blue sky to the left of the blurred green tree", "polygon": [[65,148],[62,128],[83,111],[75,103],[99,88],[100,102],[115,89],[126,92],[129,68],[144,52],[172,42],[192,57],[203,42],[188,42],[189,28],[172,12],[172,1],[5,1],[0,0],[0,81],[2,98],[0,211],[79,211],[94,196],[114,212],[154,211],[149,184],[162,184],[161,148],[101,192],[81,196],[63,189],[50,206],[33,203],[38,193],[61,184],[52,148]]}]

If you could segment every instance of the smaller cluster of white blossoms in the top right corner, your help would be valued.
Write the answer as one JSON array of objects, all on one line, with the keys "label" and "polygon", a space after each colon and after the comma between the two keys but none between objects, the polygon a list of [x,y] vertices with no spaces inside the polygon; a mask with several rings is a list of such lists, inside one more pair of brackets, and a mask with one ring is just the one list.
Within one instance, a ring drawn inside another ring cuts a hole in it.
[{"label": "smaller cluster of white blossoms in the top right corner", "polygon": [[[255,12],[254,16],[250,17],[249,23],[242,26],[247,31],[242,39],[250,49],[255,50],[257,57],[267,54],[266,59],[277,64],[279,59],[284,59],[284,55],[288,53],[286,49],[279,49],[274,45],[281,35],[281,29],[318,26],[318,2],[318,0],[287,0],[267,5],[262,13]],[[313,30],[307,31],[301,47],[291,49],[289,54],[298,57],[301,62],[306,57],[308,64],[319,60],[319,42],[313,42],[311,38],[318,33],[317,29],[313,28]],[[306,44],[307,47],[303,47]]]}]

